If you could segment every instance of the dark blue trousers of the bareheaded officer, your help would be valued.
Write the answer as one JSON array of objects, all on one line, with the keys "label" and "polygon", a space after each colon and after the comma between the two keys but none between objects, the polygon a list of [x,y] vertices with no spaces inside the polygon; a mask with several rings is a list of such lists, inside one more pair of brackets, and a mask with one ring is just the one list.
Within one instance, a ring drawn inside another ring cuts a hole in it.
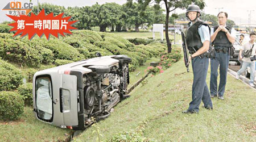
[{"label": "dark blue trousers of the bareheaded officer", "polygon": [[[217,47],[216,47],[217,48]],[[210,94],[217,96],[218,66],[220,65],[220,84],[218,85],[218,96],[223,97],[226,77],[228,74],[230,56],[227,53],[217,53],[215,59],[210,59]]]}]

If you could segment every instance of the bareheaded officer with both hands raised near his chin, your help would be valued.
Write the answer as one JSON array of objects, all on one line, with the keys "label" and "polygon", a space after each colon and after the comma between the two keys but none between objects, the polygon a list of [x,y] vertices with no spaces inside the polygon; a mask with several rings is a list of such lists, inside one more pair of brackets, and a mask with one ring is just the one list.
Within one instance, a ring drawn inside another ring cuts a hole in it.
[{"label": "bareheaded officer with both hands raised near his chin", "polygon": [[[210,95],[223,100],[226,86],[226,77],[229,66],[229,49],[236,40],[236,31],[234,28],[226,26],[228,14],[226,12],[218,13],[218,26],[212,30],[210,40],[215,48],[215,58],[210,59]],[[220,84],[217,91],[218,66],[220,66]]]}]

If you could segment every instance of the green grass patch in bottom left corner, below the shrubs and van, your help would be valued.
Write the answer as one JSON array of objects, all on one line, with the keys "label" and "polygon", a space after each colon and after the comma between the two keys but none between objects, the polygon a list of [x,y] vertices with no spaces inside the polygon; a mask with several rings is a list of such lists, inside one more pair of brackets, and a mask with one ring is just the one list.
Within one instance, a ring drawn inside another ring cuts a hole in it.
[{"label": "green grass patch in bottom left corner, below the shrubs and van", "polygon": [[64,141],[72,133],[72,130],[40,122],[31,107],[24,107],[20,120],[0,122],[0,130],[0,141]]}]

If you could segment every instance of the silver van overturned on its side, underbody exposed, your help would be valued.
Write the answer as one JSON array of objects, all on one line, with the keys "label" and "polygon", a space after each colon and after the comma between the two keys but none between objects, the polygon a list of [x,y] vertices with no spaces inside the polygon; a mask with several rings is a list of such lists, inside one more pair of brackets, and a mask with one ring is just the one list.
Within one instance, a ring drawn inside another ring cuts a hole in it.
[{"label": "silver van overturned on its side, underbody exposed", "polygon": [[126,97],[129,63],[125,55],[102,56],[36,72],[35,117],[61,128],[84,130],[110,115]]}]

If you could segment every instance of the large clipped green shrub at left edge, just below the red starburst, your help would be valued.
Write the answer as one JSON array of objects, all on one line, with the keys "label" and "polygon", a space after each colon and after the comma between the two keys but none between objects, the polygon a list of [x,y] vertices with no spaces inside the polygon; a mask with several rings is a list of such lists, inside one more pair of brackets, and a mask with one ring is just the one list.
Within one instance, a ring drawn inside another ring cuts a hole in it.
[{"label": "large clipped green shrub at left edge, just below the red starburst", "polygon": [[40,56],[36,49],[22,41],[0,38],[0,56],[20,65],[38,66]]}]

